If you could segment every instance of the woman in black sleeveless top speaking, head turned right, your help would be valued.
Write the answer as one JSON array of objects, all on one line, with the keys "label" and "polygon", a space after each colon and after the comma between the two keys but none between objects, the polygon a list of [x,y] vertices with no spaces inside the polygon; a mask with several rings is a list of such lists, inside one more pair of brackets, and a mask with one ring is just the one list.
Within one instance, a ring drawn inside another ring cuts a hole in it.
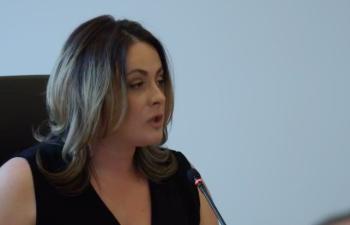
[{"label": "woman in black sleeveless top speaking, head turned right", "polygon": [[100,16],[66,41],[47,86],[50,132],[0,169],[11,225],[217,224],[167,140],[173,92],[161,43]]}]

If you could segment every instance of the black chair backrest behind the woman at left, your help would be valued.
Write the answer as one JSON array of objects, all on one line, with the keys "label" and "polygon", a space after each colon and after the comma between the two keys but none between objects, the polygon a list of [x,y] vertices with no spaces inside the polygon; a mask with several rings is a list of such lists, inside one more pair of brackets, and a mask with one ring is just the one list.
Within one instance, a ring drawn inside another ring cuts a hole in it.
[{"label": "black chair backrest behind the woman at left", "polygon": [[0,76],[0,165],[37,141],[33,130],[45,120],[48,75]]}]

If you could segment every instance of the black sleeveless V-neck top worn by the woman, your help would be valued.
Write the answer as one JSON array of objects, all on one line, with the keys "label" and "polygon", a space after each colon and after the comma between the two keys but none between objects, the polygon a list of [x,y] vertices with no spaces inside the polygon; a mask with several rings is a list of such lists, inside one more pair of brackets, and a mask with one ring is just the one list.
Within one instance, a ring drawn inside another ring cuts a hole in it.
[{"label": "black sleeveless V-neck top worn by the woman", "polygon": [[[52,186],[37,167],[35,153],[39,148],[43,162],[55,164],[57,154],[51,153],[59,152],[62,145],[40,143],[18,155],[29,162],[32,171],[36,225],[120,225],[91,185],[75,196],[64,195]],[[178,171],[159,183],[149,180],[152,225],[198,225],[198,190],[186,175],[191,166],[181,152],[170,151],[177,158]]]}]

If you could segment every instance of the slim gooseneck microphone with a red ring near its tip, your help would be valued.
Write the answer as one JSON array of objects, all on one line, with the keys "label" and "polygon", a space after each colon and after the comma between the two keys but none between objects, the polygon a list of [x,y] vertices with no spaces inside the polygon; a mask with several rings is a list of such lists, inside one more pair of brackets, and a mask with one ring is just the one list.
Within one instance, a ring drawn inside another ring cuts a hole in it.
[{"label": "slim gooseneck microphone with a red ring near its tip", "polygon": [[216,218],[219,220],[220,224],[226,225],[226,223],[225,223],[224,219],[222,218],[219,210],[216,208],[213,199],[210,197],[208,189],[205,186],[205,184],[204,184],[204,182],[203,182],[199,172],[195,168],[191,168],[191,169],[189,169],[187,171],[187,178],[189,179],[189,181],[192,184],[194,184],[196,187],[198,187],[199,190],[202,192],[204,197],[207,199],[211,209],[213,210]]}]

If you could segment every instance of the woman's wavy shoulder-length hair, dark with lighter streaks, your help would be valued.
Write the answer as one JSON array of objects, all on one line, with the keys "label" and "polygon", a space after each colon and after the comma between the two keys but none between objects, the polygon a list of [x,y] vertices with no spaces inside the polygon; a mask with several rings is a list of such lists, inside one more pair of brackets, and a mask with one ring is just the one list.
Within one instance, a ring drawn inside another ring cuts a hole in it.
[{"label": "woman's wavy shoulder-length hair, dark with lighter streaks", "polygon": [[165,50],[160,41],[139,23],[115,20],[104,15],[76,28],[65,42],[50,75],[46,103],[49,132],[37,138],[63,143],[62,170],[52,172],[44,165],[40,151],[36,160],[41,172],[57,187],[79,192],[89,183],[90,144],[115,131],[127,110],[126,55],[135,42],[151,45],[159,54],[164,71],[166,97],[165,126],[159,145],[138,147],[134,165],[147,178],[159,181],[174,174],[177,162],[171,151],[160,146],[167,141],[174,95]]}]

